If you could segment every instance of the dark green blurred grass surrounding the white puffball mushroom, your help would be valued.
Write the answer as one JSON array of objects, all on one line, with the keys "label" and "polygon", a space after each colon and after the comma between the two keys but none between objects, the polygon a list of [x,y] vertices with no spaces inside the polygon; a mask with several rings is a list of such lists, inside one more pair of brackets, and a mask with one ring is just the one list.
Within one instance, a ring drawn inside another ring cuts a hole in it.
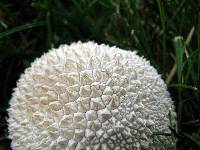
[{"label": "dark green blurred grass surrounding the white puffball mushroom", "polygon": [[138,49],[176,105],[171,149],[200,149],[199,8],[200,0],[0,0],[0,150],[11,142],[6,109],[19,75],[49,48],[78,40]]}]

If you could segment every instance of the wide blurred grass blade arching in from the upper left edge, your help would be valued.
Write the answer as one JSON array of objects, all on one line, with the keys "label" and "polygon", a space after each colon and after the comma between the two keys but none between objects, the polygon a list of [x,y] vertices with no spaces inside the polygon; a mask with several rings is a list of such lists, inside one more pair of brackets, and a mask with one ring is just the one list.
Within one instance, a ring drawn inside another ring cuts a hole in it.
[{"label": "wide blurred grass blade arching in from the upper left edge", "polygon": [[27,24],[24,24],[24,25],[21,25],[21,26],[17,26],[17,27],[14,27],[12,29],[1,32],[0,33],[0,39],[5,37],[5,36],[9,36],[13,33],[16,33],[16,32],[20,32],[20,31],[23,31],[23,30],[26,30],[26,29],[31,29],[31,28],[34,28],[34,27],[39,27],[39,26],[44,26],[44,25],[45,25],[45,21],[40,21],[40,22],[27,23]]}]

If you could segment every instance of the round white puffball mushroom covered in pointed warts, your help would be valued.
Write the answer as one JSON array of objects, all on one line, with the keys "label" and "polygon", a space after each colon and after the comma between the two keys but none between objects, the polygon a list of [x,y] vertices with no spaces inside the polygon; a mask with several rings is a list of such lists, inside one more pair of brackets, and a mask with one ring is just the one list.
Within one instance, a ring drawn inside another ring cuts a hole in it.
[{"label": "round white puffball mushroom covered in pointed warts", "polygon": [[174,105],[136,52],[94,42],[51,49],[17,82],[8,109],[14,150],[162,149]]}]

